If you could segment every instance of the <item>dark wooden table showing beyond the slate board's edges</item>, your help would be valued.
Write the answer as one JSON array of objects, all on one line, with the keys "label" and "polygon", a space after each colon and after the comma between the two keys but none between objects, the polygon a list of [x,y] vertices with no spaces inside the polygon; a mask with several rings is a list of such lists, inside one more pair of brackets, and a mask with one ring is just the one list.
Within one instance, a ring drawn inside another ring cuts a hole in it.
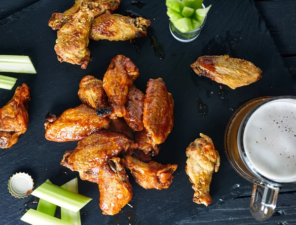
[{"label": "dark wooden table showing beyond the slate board's edges", "polygon": [[[0,1],[0,19],[19,11],[38,0],[10,0],[9,6]],[[12,3],[13,2],[13,3]],[[296,80],[296,0],[255,0],[292,78]],[[296,225],[296,187],[285,188],[278,197],[274,216],[259,223],[251,215],[251,189],[239,197],[221,202],[217,207],[200,214],[192,225]]]}]

